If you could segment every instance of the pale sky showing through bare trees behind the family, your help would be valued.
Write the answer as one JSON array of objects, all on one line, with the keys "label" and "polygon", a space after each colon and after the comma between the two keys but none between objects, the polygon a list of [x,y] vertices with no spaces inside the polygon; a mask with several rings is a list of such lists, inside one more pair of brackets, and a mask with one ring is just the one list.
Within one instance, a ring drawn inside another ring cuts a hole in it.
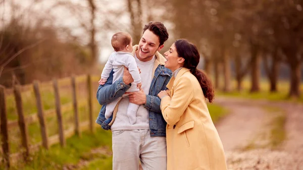
[{"label": "pale sky showing through bare trees behind the family", "polygon": [[[10,3],[13,2],[15,4],[20,5],[20,9],[18,9],[16,13],[19,15],[24,15],[24,18],[27,22],[31,24],[37,24],[35,23],[36,18],[51,18],[52,25],[56,27],[67,27],[72,31],[73,35],[80,37],[80,41],[83,44],[87,44],[89,42],[89,34],[85,31],[85,29],[83,29],[80,24],[80,22],[82,22],[86,25],[89,25],[89,7],[88,3],[85,0],[5,0],[4,2],[5,3],[0,5],[0,14],[4,16],[6,22],[8,22],[11,17],[12,11],[10,8]],[[131,21],[126,6],[126,0],[97,0],[95,2],[99,11],[96,14],[95,19],[95,25],[97,27],[97,30],[99,30],[96,32],[95,37],[99,49],[99,62],[106,63],[109,58],[109,55],[114,52],[110,42],[112,35],[117,31],[129,32]],[[143,24],[147,23],[147,12],[152,13],[155,18],[159,18],[165,15],[165,10],[163,9],[149,9],[148,5],[152,6],[152,4],[147,5],[147,0],[142,0],[141,2],[143,8]],[[56,6],[56,4],[58,3],[65,6],[66,4],[71,3],[73,6],[80,8],[81,12],[78,12],[77,14],[81,14],[81,19],[79,19],[78,15],[75,15],[75,13],[72,12],[74,8]],[[122,12],[122,14],[117,18],[117,16],[111,15],[113,11]],[[35,19],[33,19],[33,17],[35,17]],[[103,31],[103,26],[106,22],[106,19],[110,21],[115,21],[115,30]],[[164,22],[164,24],[168,29],[173,28],[173,25],[171,23]],[[173,37],[171,35],[172,34],[170,34],[170,37]],[[62,37],[64,39],[64,35]],[[134,44],[137,43],[134,42]]]}]

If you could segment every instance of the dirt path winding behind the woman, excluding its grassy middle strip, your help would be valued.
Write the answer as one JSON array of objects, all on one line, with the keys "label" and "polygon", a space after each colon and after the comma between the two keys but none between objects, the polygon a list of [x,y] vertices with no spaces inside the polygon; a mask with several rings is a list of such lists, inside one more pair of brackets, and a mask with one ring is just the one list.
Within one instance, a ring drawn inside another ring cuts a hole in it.
[{"label": "dirt path winding behind the woman, excluding its grassy middle strip", "polygon": [[[303,169],[303,104],[221,97],[215,103],[230,111],[216,125],[228,169]],[[266,147],[271,122],[266,107],[286,116],[286,139],[276,150]]]}]

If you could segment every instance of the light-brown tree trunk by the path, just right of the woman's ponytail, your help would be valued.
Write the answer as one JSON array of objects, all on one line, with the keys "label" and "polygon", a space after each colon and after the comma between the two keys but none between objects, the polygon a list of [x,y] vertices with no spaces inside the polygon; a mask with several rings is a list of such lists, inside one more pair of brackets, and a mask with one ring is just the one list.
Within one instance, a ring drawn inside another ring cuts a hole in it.
[{"label": "light-brown tree trunk by the path, just right of the woman's ponytail", "polygon": [[230,91],[230,58],[228,50],[223,51],[224,92]]}]

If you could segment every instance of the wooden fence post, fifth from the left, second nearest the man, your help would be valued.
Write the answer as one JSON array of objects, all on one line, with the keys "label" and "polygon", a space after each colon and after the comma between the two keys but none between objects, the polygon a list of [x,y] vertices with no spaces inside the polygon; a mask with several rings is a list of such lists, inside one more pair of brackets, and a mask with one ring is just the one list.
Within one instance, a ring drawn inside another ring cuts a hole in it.
[{"label": "wooden fence post, fifth from the left, second nearest the man", "polygon": [[71,80],[72,80],[73,106],[74,106],[74,114],[75,114],[75,134],[81,137],[75,77],[73,76]]}]

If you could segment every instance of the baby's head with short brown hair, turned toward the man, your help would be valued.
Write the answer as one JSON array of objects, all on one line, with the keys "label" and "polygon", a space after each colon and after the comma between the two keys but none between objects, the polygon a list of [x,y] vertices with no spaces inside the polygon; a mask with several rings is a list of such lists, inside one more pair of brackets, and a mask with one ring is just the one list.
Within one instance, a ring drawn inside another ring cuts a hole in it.
[{"label": "baby's head with short brown hair, turned toward the man", "polygon": [[112,36],[112,46],[115,51],[123,50],[130,41],[131,36],[126,32],[117,32]]}]

